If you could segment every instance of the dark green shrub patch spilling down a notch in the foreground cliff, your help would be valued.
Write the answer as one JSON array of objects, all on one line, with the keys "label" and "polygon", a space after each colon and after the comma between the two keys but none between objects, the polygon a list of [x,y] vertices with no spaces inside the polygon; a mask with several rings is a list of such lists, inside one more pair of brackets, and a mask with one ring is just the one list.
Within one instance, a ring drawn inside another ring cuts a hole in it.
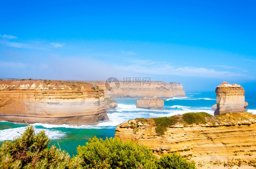
[{"label": "dark green shrub patch spilling down a notch in the foreground cliff", "polygon": [[156,124],[156,133],[163,135],[168,127],[175,125],[178,122],[177,116],[153,118]]}]

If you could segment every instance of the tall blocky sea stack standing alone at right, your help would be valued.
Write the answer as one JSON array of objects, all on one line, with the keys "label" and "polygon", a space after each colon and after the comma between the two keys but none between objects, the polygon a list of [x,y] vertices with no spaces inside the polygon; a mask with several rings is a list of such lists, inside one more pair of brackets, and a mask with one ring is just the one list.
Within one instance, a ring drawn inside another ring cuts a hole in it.
[{"label": "tall blocky sea stack standing alone at right", "polygon": [[220,115],[223,113],[240,113],[246,108],[244,102],[244,89],[242,86],[234,83],[229,84],[222,82],[216,87],[216,102],[217,108],[214,115]]}]

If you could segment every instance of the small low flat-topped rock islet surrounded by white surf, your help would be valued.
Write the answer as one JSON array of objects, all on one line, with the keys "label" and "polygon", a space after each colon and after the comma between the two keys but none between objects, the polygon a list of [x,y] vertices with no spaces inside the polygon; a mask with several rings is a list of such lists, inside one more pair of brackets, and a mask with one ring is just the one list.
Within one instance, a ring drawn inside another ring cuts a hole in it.
[{"label": "small low flat-topped rock islet surrounded by white surf", "polygon": [[158,97],[144,98],[137,100],[136,107],[141,109],[151,109],[151,110],[162,110],[164,106],[163,100]]}]

